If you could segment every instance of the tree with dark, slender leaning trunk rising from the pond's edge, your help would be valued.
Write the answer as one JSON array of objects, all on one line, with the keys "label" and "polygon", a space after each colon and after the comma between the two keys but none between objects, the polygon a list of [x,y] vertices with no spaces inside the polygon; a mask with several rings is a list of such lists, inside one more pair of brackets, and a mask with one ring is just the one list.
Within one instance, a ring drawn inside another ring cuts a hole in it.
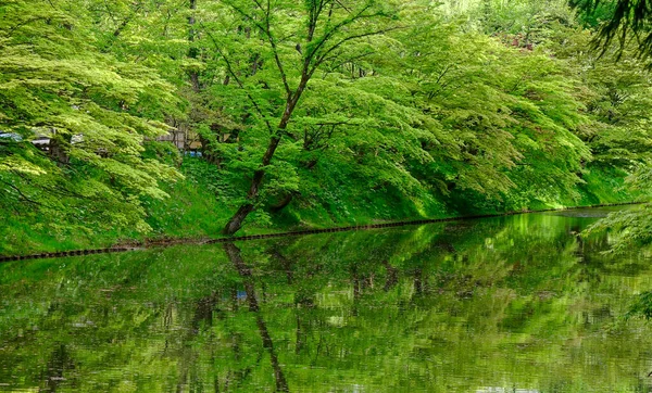
[{"label": "tree with dark, slender leaning trunk rising from the pond's edge", "polygon": [[[265,172],[315,73],[325,62],[337,61],[351,42],[392,27],[373,23],[390,20],[389,13],[375,0],[311,0],[299,5],[292,1],[231,0],[224,7],[230,12],[228,22],[236,23],[238,30],[227,30],[222,37],[210,28],[204,33],[224,62],[227,76],[250,105],[247,115],[255,117],[254,127],[267,134],[247,198],[224,229],[224,233],[233,234],[259,204]],[[225,38],[231,40],[227,42]],[[240,43],[244,43],[240,47],[244,52],[251,51],[250,59],[238,58],[243,51],[234,45]]]}]

